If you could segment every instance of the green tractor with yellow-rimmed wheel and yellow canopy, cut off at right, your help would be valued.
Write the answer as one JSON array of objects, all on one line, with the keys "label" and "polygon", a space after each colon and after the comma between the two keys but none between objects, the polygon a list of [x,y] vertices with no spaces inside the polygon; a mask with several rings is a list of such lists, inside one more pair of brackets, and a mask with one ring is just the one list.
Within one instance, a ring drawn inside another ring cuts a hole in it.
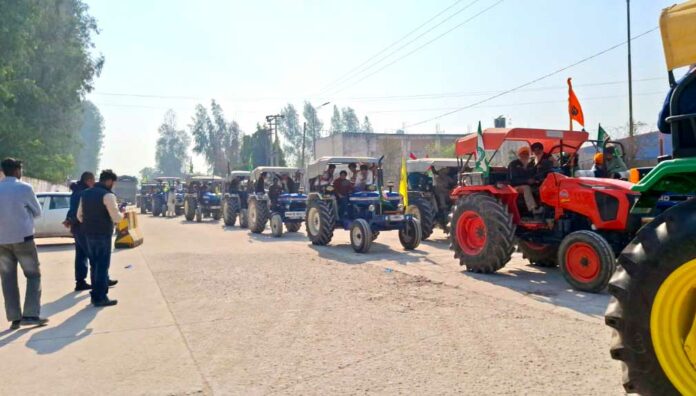
[{"label": "green tractor with yellow-rimmed wheel and yellow canopy, cut off at right", "polygon": [[[660,29],[672,87],[661,129],[672,135],[672,157],[635,185],[641,196],[632,210],[643,214],[666,192],[696,191],[696,0],[663,10]],[[676,82],[674,70],[689,65]],[[696,395],[695,226],[690,199],[643,226],[619,256],[605,321],[629,393]]]}]

